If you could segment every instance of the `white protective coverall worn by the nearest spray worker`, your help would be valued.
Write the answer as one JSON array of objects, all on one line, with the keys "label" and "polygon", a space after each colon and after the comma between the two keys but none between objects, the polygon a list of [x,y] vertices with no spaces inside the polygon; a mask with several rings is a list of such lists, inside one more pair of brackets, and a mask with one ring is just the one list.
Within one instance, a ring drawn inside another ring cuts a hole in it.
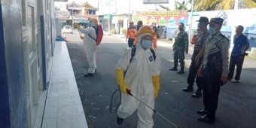
[{"label": "white protective coverall worn by the nearest spray worker", "polygon": [[[124,78],[125,83],[129,86],[131,93],[137,98],[141,99],[145,104],[154,108],[154,87],[151,77],[153,75],[160,75],[160,57],[153,59],[153,53],[150,49],[144,50],[140,43],[136,46],[136,53],[131,58],[131,48],[126,49],[123,56],[117,63],[117,69],[126,71]],[[138,125],[137,128],[152,128],[154,126],[153,113],[150,108],[140,103],[133,96],[122,93],[122,100],[120,107],[117,110],[117,116],[126,118],[133,114],[138,109]]]}]

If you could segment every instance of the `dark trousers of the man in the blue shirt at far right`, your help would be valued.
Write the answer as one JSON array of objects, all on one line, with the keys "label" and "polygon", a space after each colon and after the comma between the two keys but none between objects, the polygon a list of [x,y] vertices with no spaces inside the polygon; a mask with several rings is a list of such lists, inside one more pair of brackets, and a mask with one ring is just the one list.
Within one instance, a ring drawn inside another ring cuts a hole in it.
[{"label": "dark trousers of the man in the blue shirt at far right", "polygon": [[244,61],[245,56],[244,55],[239,55],[239,56],[230,56],[230,72],[228,73],[228,79],[233,78],[233,73],[235,71],[235,66],[236,66],[236,76],[235,80],[240,80],[240,75],[242,72],[242,63]]}]

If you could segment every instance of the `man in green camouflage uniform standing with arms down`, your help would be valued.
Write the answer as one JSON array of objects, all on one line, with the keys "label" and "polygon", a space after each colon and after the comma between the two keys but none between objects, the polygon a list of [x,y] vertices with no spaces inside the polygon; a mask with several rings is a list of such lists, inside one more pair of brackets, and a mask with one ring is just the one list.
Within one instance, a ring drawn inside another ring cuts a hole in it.
[{"label": "man in green camouflage uniform standing with arms down", "polygon": [[188,35],[184,31],[184,23],[179,23],[178,26],[179,33],[175,36],[175,42],[173,44],[173,56],[174,56],[174,67],[169,69],[169,71],[177,71],[178,59],[181,66],[181,70],[177,72],[178,74],[184,74],[184,52],[188,52]]}]

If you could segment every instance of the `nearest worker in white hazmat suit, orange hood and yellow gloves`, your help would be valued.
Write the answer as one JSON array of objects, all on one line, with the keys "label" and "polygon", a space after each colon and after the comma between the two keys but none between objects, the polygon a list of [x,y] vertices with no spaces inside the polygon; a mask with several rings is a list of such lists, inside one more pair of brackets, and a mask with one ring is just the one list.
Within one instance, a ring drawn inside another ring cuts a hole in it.
[{"label": "nearest worker in white hazmat suit, orange hood and yellow gloves", "polygon": [[[160,57],[155,59],[150,50],[155,33],[150,26],[142,26],[137,35],[136,53],[131,59],[132,48],[126,49],[116,66],[117,84],[121,91],[121,104],[117,110],[117,124],[138,110],[137,128],[151,128],[154,126],[153,113],[150,108],[140,103],[136,96],[145,104],[154,108],[154,99],[160,89]],[[123,76],[123,71],[126,75]],[[128,95],[130,91],[133,96]]]}]

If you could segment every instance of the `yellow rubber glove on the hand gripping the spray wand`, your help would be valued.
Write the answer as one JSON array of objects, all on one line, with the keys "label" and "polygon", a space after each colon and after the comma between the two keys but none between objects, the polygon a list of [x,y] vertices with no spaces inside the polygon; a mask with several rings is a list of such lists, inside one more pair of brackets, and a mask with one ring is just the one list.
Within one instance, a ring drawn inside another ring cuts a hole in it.
[{"label": "yellow rubber glove on the hand gripping the spray wand", "polygon": [[123,80],[123,69],[117,69],[115,71],[116,76],[117,76],[117,85],[120,88],[120,91],[122,93],[127,94],[127,90],[130,90],[128,85],[125,83],[125,81]]}]

